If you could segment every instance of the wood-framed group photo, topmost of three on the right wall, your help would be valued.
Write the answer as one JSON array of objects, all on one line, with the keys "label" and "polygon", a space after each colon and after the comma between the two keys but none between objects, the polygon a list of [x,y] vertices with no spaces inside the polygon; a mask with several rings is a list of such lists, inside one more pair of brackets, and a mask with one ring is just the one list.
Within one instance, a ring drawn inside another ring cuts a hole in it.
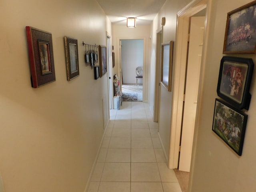
[{"label": "wood-framed group photo, topmost of three on the right wall", "polygon": [[228,13],[223,53],[256,53],[256,1]]}]

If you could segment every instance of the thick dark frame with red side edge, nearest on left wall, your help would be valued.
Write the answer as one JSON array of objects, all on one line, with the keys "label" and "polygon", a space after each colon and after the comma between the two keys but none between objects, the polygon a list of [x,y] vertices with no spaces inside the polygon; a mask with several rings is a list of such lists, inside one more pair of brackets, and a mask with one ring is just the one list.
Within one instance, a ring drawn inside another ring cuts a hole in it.
[{"label": "thick dark frame with red side edge, nearest on left wall", "polygon": [[26,26],[26,35],[32,87],[55,81],[52,34]]}]

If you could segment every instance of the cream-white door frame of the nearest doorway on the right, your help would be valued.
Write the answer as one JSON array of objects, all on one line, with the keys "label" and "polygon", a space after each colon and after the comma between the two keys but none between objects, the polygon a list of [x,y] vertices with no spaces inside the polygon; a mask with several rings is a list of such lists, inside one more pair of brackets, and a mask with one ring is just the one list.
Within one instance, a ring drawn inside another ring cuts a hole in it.
[{"label": "cream-white door frame of the nearest doorway on the right", "polygon": [[[178,167],[178,157],[179,157],[179,148],[180,148],[180,130],[182,124],[182,109],[183,109],[183,97],[184,97],[184,84],[185,84],[185,71],[186,71],[186,57],[187,57],[187,40],[188,40],[188,27],[189,27],[189,17],[196,14],[200,10],[207,7],[206,10],[206,25],[204,32],[204,45],[202,52],[202,62],[201,62],[201,70],[200,70],[200,84],[198,90],[198,106],[197,112],[198,114],[200,110],[201,104],[201,92],[202,85],[204,80],[204,68],[205,68],[205,58],[206,58],[206,47],[207,47],[207,37],[209,32],[209,24],[207,21],[209,20],[210,12],[210,4],[212,0],[193,0],[180,10],[177,13],[177,31],[176,31],[176,48],[174,52],[174,95],[173,95],[173,108],[172,108],[172,120],[171,120],[171,133],[170,133],[170,156],[169,156],[169,168],[177,168]],[[191,169],[193,168],[194,162],[194,148],[195,142],[197,140],[197,130],[198,130],[198,116],[196,115],[195,122],[195,132],[194,132],[194,142],[192,149],[192,164]]]}]

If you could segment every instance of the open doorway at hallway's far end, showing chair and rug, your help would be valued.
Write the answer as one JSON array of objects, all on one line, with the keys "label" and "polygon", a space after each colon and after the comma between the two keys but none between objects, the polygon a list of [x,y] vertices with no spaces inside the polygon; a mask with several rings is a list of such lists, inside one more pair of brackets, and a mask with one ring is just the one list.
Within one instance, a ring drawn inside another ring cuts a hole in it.
[{"label": "open doorway at hallway's far end, showing chair and rug", "polygon": [[[120,40],[122,49],[122,100],[143,100],[144,40]],[[140,68],[138,68],[140,67]],[[140,69],[139,71],[136,70]],[[141,78],[136,79],[136,76]]]}]

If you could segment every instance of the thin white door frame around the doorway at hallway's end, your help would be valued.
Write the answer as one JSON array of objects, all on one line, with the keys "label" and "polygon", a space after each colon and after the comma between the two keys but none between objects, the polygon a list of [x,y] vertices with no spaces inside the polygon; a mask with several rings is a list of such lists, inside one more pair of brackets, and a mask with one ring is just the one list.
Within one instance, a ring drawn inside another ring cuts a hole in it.
[{"label": "thin white door frame around the doorway at hallway's end", "polygon": [[[143,81],[142,81],[142,92],[143,92],[143,95],[142,95],[142,101],[143,102],[147,102],[147,100],[145,99],[146,98],[146,86],[148,86],[148,73],[147,73],[147,70],[148,70],[148,66],[146,66],[146,38],[145,37],[142,37],[142,38],[117,38],[117,44],[120,45],[120,41],[121,40],[140,40],[140,39],[143,39]],[[121,66],[121,59],[120,58],[120,48],[118,47],[117,48],[117,60],[118,60],[118,63],[120,65],[117,66],[117,74],[122,74],[121,70],[122,70],[122,66]],[[122,80],[122,77],[119,77],[120,80]]]}]

